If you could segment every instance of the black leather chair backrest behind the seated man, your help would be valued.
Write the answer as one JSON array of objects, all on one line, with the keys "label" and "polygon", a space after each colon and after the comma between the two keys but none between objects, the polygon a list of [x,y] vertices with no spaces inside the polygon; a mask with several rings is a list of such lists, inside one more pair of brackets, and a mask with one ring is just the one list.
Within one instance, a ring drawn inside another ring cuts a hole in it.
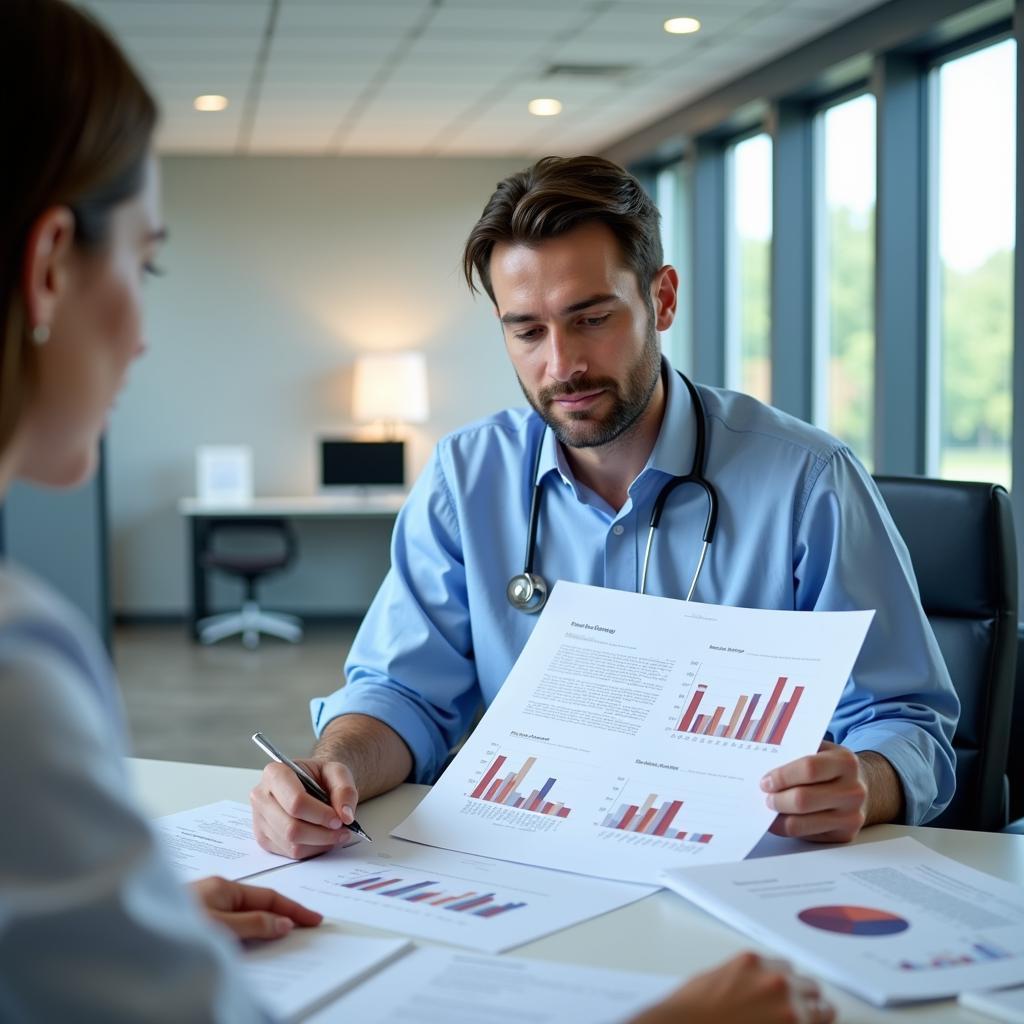
[{"label": "black leather chair backrest behind the seated man", "polygon": [[996,484],[878,477],[906,542],[921,602],[959,696],[956,794],[934,821],[1006,824],[1006,770],[1017,666],[1017,542]]}]

